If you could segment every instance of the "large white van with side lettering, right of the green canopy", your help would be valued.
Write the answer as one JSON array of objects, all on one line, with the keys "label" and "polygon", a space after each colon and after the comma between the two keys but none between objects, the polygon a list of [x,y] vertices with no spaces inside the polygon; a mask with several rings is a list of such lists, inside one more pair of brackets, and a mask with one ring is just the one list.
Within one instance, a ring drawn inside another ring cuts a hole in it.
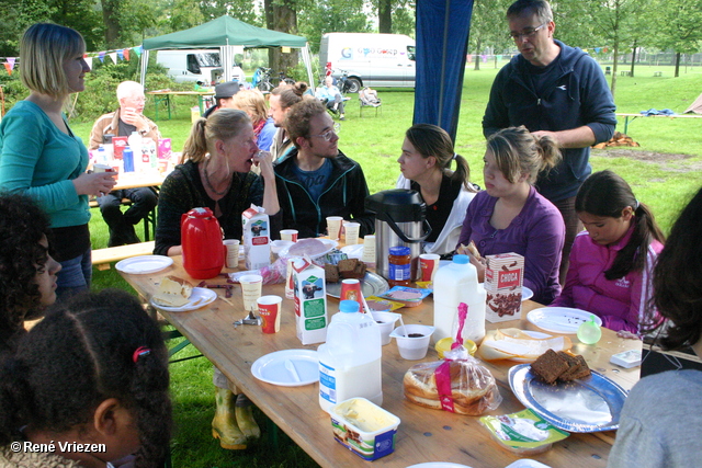
[{"label": "large white van with side lettering, right of the green canopy", "polygon": [[319,44],[319,65],[339,78],[348,72],[350,92],[361,87],[415,87],[415,39],[404,34],[328,33]]}]

